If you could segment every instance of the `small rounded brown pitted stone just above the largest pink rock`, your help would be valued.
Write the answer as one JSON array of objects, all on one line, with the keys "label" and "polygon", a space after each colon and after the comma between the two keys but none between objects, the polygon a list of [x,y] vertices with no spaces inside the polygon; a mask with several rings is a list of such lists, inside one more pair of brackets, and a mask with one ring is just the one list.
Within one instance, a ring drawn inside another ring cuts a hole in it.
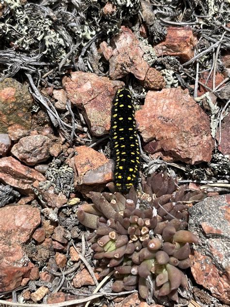
[{"label": "small rounded brown pitted stone just above the largest pink rock", "polygon": [[144,87],[148,89],[162,89],[165,86],[164,77],[155,68],[149,68],[145,77]]}]

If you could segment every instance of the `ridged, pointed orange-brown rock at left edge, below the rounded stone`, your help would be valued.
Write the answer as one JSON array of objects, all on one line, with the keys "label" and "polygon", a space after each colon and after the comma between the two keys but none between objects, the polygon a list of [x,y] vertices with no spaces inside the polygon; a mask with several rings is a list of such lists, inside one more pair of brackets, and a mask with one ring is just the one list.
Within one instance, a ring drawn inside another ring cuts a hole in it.
[{"label": "ridged, pointed orange-brown rock at left edge, below the rounded stone", "polygon": [[46,180],[41,173],[22,165],[13,157],[0,158],[0,178],[2,183],[18,189],[23,194],[34,193],[32,185],[35,180]]}]

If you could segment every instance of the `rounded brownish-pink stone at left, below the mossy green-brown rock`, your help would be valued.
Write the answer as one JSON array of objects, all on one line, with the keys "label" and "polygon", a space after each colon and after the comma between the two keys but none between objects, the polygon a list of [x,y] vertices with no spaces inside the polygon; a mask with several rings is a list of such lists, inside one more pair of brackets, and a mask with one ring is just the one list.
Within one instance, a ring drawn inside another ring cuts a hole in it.
[{"label": "rounded brownish-pink stone at left, below the mossy green-brown rock", "polygon": [[51,146],[52,141],[48,136],[25,136],[13,146],[11,153],[25,164],[35,165],[49,158]]}]

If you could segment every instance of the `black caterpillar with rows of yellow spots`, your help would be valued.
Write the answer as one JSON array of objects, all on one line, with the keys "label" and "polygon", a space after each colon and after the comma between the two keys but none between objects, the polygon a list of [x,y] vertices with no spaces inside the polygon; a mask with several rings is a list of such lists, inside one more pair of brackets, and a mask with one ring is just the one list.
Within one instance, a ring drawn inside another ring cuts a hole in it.
[{"label": "black caterpillar with rows of yellow spots", "polygon": [[121,192],[127,192],[131,186],[137,188],[139,150],[131,92],[127,88],[119,89],[112,107],[111,151],[115,186]]}]

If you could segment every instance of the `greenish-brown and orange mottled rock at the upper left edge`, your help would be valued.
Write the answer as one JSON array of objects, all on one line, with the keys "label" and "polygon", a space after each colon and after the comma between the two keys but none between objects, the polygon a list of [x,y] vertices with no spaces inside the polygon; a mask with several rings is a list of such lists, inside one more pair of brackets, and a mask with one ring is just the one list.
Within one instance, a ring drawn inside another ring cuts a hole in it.
[{"label": "greenish-brown and orange mottled rock at the upper left edge", "polygon": [[16,140],[31,128],[32,98],[27,86],[12,78],[0,82],[0,133]]}]

